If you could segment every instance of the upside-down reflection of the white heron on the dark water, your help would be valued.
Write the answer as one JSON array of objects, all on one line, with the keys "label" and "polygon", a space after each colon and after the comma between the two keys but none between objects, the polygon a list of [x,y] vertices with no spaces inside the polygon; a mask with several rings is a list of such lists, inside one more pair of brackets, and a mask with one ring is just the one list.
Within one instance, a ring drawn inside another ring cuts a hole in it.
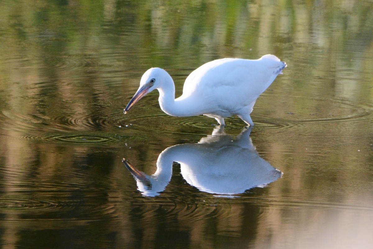
[{"label": "upside-down reflection of the white heron on the dark water", "polygon": [[172,163],[180,164],[181,174],[200,191],[217,195],[243,193],[253,187],[264,187],[282,176],[282,172],[261,158],[250,138],[251,128],[245,128],[233,138],[222,127],[197,144],[171,146],[159,155],[157,170],[152,175],[134,167],[123,158],[134,176],[138,190],[145,196],[157,196],[172,176]]}]

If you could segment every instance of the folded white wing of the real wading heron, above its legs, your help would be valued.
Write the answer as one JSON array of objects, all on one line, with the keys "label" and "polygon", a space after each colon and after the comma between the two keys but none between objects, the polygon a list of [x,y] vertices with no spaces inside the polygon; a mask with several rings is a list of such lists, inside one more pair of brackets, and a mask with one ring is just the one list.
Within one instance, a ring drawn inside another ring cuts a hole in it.
[{"label": "folded white wing of the real wading heron, above its legs", "polygon": [[186,78],[182,97],[201,102],[205,108],[211,105],[211,108],[232,110],[250,105],[285,67],[273,57],[208,62]]}]

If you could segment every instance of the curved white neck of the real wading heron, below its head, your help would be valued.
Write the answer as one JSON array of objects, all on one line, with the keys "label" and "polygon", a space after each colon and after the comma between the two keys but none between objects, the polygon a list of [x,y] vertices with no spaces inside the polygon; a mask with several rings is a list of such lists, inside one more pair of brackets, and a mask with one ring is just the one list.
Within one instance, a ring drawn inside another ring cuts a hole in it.
[{"label": "curved white neck of the real wading heron, below its head", "polygon": [[[159,105],[165,113],[176,117],[195,116],[193,110],[193,103],[188,103],[187,100],[175,101],[175,84],[170,77],[163,86],[158,88],[159,91]],[[197,114],[198,115],[198,114]]]}]

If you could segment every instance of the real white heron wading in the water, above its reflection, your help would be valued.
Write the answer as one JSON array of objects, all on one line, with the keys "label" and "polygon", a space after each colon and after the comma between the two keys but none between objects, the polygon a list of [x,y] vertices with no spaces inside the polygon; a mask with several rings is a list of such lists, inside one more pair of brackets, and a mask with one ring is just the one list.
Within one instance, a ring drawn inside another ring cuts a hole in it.
[{"label": "real white heron wading in the water, above its reflection", "polygon": [[224,126],[224,119],[237,115],[253,126],[250,113],[255,101],[286,67],[276,56],[258,60],[225,58],[207,62],[185,80],[183,94],[175,99],[175,84],[163,69],[154,67],[142,75],[140,87],[124,109],[129,109],[149,92],[159,91],[159,105],[177,117],[205,115]]}]

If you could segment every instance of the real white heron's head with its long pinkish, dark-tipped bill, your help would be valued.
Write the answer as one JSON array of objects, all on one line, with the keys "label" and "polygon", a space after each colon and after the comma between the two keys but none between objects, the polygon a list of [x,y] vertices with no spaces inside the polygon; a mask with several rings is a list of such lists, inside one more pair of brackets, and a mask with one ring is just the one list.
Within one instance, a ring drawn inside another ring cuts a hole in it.
[{"label": "real white heron's head with its long pinkish, dark-tipped bill", "polygon": [[166,76],[169,76],[169,74],[159,67],[148,69],[144,75],[142,75],[140,87],[124,109],[124,114],[126,114],[129,109],[137,103],[137,101],[141,100],[149,92],[159,88],[161,82],[164,81]]}]

